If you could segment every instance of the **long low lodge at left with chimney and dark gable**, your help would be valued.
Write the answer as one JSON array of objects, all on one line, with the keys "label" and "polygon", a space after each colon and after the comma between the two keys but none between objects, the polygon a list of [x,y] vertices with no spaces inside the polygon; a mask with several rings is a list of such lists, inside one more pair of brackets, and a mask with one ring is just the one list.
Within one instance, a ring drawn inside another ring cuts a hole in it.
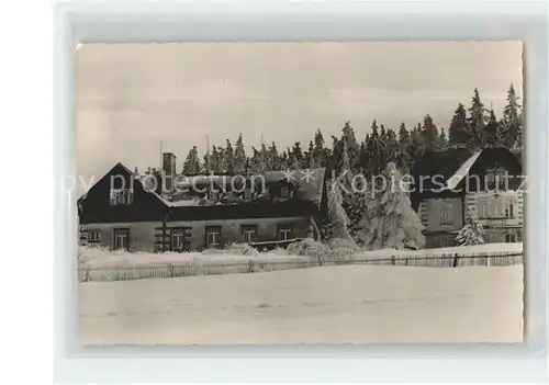
[{"label": "long low lodge at left with chimney and dark gable", "polygon": [[79,199],[82,244],[161,252],[321,238],[324,169],[186,177],[172,155],[163,159],[159,178],[117,163]]}]

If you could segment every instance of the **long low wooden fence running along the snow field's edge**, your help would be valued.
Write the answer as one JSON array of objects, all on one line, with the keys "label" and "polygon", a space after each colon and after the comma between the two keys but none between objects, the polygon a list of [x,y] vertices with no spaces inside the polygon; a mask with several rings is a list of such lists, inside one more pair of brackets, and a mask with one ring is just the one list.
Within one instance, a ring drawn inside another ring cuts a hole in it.
[{"label": "long low wooden fence running along the snow field's edge", "polygon": [[523,253],[516,251],[484,252],[474,254],[396,254],[388,257],[363,258],[360,254],[340,259],[322,259],[317,257],[288,256],[277,259],[265,259],[261,256],[248,260],[195,259],[181,262],[131,263],[120,265],[81,265],[78,268],[78,280],[89,281],[125,281],[141,279],[180,278],[193,275],[238,274],[267,272],[274,270],[304,269],[318,265],[373,264],[405,265],[425,268],[459,268],[467,265],[503,267],[522,264]]}]

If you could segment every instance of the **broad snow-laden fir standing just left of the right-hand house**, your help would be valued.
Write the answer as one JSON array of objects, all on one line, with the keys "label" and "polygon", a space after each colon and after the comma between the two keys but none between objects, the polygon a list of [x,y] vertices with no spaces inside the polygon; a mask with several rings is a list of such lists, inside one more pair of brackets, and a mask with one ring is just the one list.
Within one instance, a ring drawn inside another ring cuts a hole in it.
[{"label": "broad snow-laden fir standing just left of the right-hand house", "polygon": [[424,227],[402,189],[396,166],[388,163],[383,172],[386,188],[378,193],[363,215],[358,237],[369,249],[419,249],[425,245]]}]

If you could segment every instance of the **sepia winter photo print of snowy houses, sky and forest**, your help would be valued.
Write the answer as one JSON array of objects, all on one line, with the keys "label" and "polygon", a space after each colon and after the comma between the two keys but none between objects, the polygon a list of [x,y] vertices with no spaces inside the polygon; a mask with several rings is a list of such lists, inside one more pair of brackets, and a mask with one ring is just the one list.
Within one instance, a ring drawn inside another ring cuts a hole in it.
[{"label": "sepia winter photo print of snowy houses, sky and forest", "polygon": [[89,43],[74,72],[82,344],[523,342],[520,42]]}]

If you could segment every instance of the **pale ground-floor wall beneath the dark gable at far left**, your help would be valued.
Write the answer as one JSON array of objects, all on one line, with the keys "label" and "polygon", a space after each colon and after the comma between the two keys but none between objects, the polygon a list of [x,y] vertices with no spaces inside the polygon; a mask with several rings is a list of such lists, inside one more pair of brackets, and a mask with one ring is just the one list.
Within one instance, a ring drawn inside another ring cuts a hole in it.
[{"label": "pale ground-floor wall beneath the dark gable at far left", "polygon": [[150,251],[155,250],[155,227],[160,227],[160,222],[136,222],[136,223],[103,223],[88,224],[81,226],[80,239],[87,238],[88,230],[100,230],[101,240],[98,246],[107,249],[114,249],[114,229],[130,229],[130,251]]}]

